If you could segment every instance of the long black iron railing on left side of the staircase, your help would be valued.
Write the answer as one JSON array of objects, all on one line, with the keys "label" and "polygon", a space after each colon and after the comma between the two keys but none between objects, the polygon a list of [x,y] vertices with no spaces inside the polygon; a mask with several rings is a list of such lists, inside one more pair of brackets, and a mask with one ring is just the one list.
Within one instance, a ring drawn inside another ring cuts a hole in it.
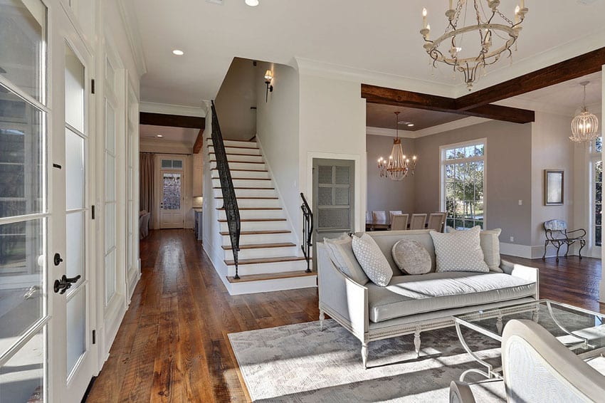
[{"label": "long black iron railing on left side of the staircase", "polygon": [[227,162],[227,154],[225,152],[225,145],[223,144],[223,135],[221,134],[219,117],[216,115],[216,108],[214,108],[214,101],[212,101],[211,137],[212,147],[214,147],[214,157],[216,157],[216,169],[219,170],[221,191],[223,192],[223,209],[225,209],[225,216],[227,218],[227,226],[229,229],[229,238],[231,239],[231,251],[233,251],[233,262],[236,266],[236,275],[234,276],[234,278],[239,279],[238,252],[241,222],[239,218],[236,191],[235,189],[233,189],[231,171],[229,171],[229,163]]}]

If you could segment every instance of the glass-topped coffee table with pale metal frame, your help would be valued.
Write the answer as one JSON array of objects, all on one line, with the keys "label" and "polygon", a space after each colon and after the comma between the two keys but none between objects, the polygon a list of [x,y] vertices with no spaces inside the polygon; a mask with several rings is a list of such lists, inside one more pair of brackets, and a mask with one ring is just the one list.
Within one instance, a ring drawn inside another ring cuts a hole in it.
[{"label": "glass-topped coffee table with pale metal frame", "polygon": [[[464,349],[475,361],[485,367],[485,370],[466,370],[460,377],[461,381],[470,372],[478,373],[488,379],[502,378],[502,366],[495,366],[480,357],[478,355],[480,348],[477,346],[475,335],[468,337],[469,331],[463,332],[463,328],[502,342],[503,329],[509,320],[533,320],[584,360],[605,352],[604,314],[552,300],[536,300],[478,310],[463,315],[454,315],[453,318],[456,321],[458,338]],[[467,337],[463,333],[466,333]]]}]

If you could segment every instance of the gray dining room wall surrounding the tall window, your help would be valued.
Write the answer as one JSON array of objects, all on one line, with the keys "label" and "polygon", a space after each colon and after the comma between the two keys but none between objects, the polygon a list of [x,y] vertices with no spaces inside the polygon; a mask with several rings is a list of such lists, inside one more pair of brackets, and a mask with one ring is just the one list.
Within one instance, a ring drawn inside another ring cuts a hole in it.
[{"label": "gray dining room wall surrounding the tall window", "polygon": [[481,138],[487,138],[487,227],[501,228],[502,242],[509,243],[514,236],[512,243],[532,245],[531,124],[490,121],[414,140],[419,157],[414,212],[441,208],[439,147]]}]

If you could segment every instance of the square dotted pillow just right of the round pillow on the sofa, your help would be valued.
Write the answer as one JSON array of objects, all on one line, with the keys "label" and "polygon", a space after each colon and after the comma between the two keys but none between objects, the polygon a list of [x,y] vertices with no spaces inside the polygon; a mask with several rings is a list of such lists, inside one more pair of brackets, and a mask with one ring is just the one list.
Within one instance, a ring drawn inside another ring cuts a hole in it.
[{"label": "square dotted pillow just right of the round pillow on the sofa", "polygon": [[[480,226],[467,231],[441,233],[431,231],[435,246],[437,272],[476,271],[487,273],[490,268],[483,260],[479,233]],[[362,265],[363,266],[363,265]]]}]

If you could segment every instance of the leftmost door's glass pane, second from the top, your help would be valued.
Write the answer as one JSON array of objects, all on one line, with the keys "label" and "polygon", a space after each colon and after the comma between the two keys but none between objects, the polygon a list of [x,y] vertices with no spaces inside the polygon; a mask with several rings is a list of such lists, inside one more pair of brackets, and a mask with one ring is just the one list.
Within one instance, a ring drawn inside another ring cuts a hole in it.
[{"label": "leftmost door's glass pane, second from the top", "polygon": [[0,217],[41,213],[46,114],[0,90]]}]

